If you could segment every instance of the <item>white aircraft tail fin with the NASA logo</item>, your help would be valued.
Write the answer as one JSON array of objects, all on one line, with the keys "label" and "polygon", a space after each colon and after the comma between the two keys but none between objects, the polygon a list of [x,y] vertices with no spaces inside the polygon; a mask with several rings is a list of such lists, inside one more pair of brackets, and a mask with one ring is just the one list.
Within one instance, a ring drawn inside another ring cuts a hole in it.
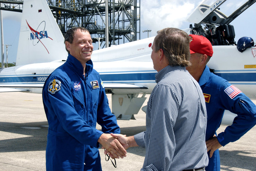
[{"label": "white aircraft tail fin with the NASA logo", "polygon": [[46,0],[24,0],[16,65],[66,60],[67,55]]}]

